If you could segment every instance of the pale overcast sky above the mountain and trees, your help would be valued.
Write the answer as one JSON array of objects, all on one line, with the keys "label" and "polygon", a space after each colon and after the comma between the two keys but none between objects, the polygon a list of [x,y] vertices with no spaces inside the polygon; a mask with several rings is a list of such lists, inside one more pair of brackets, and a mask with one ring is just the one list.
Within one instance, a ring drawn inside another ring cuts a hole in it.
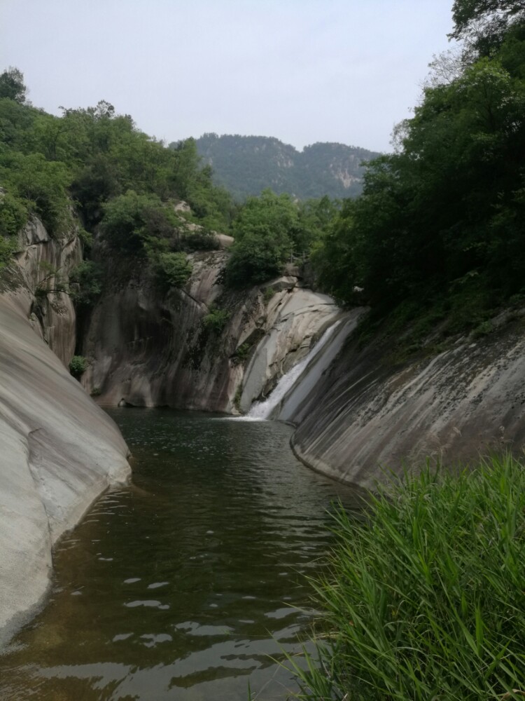
[{"label": "pale overcast sky above the mountain and trees", "polygon": [[204,132],[389,151],[452,0],[0,0],[0,70],[35,107],[111,102],[167,142]]}]

